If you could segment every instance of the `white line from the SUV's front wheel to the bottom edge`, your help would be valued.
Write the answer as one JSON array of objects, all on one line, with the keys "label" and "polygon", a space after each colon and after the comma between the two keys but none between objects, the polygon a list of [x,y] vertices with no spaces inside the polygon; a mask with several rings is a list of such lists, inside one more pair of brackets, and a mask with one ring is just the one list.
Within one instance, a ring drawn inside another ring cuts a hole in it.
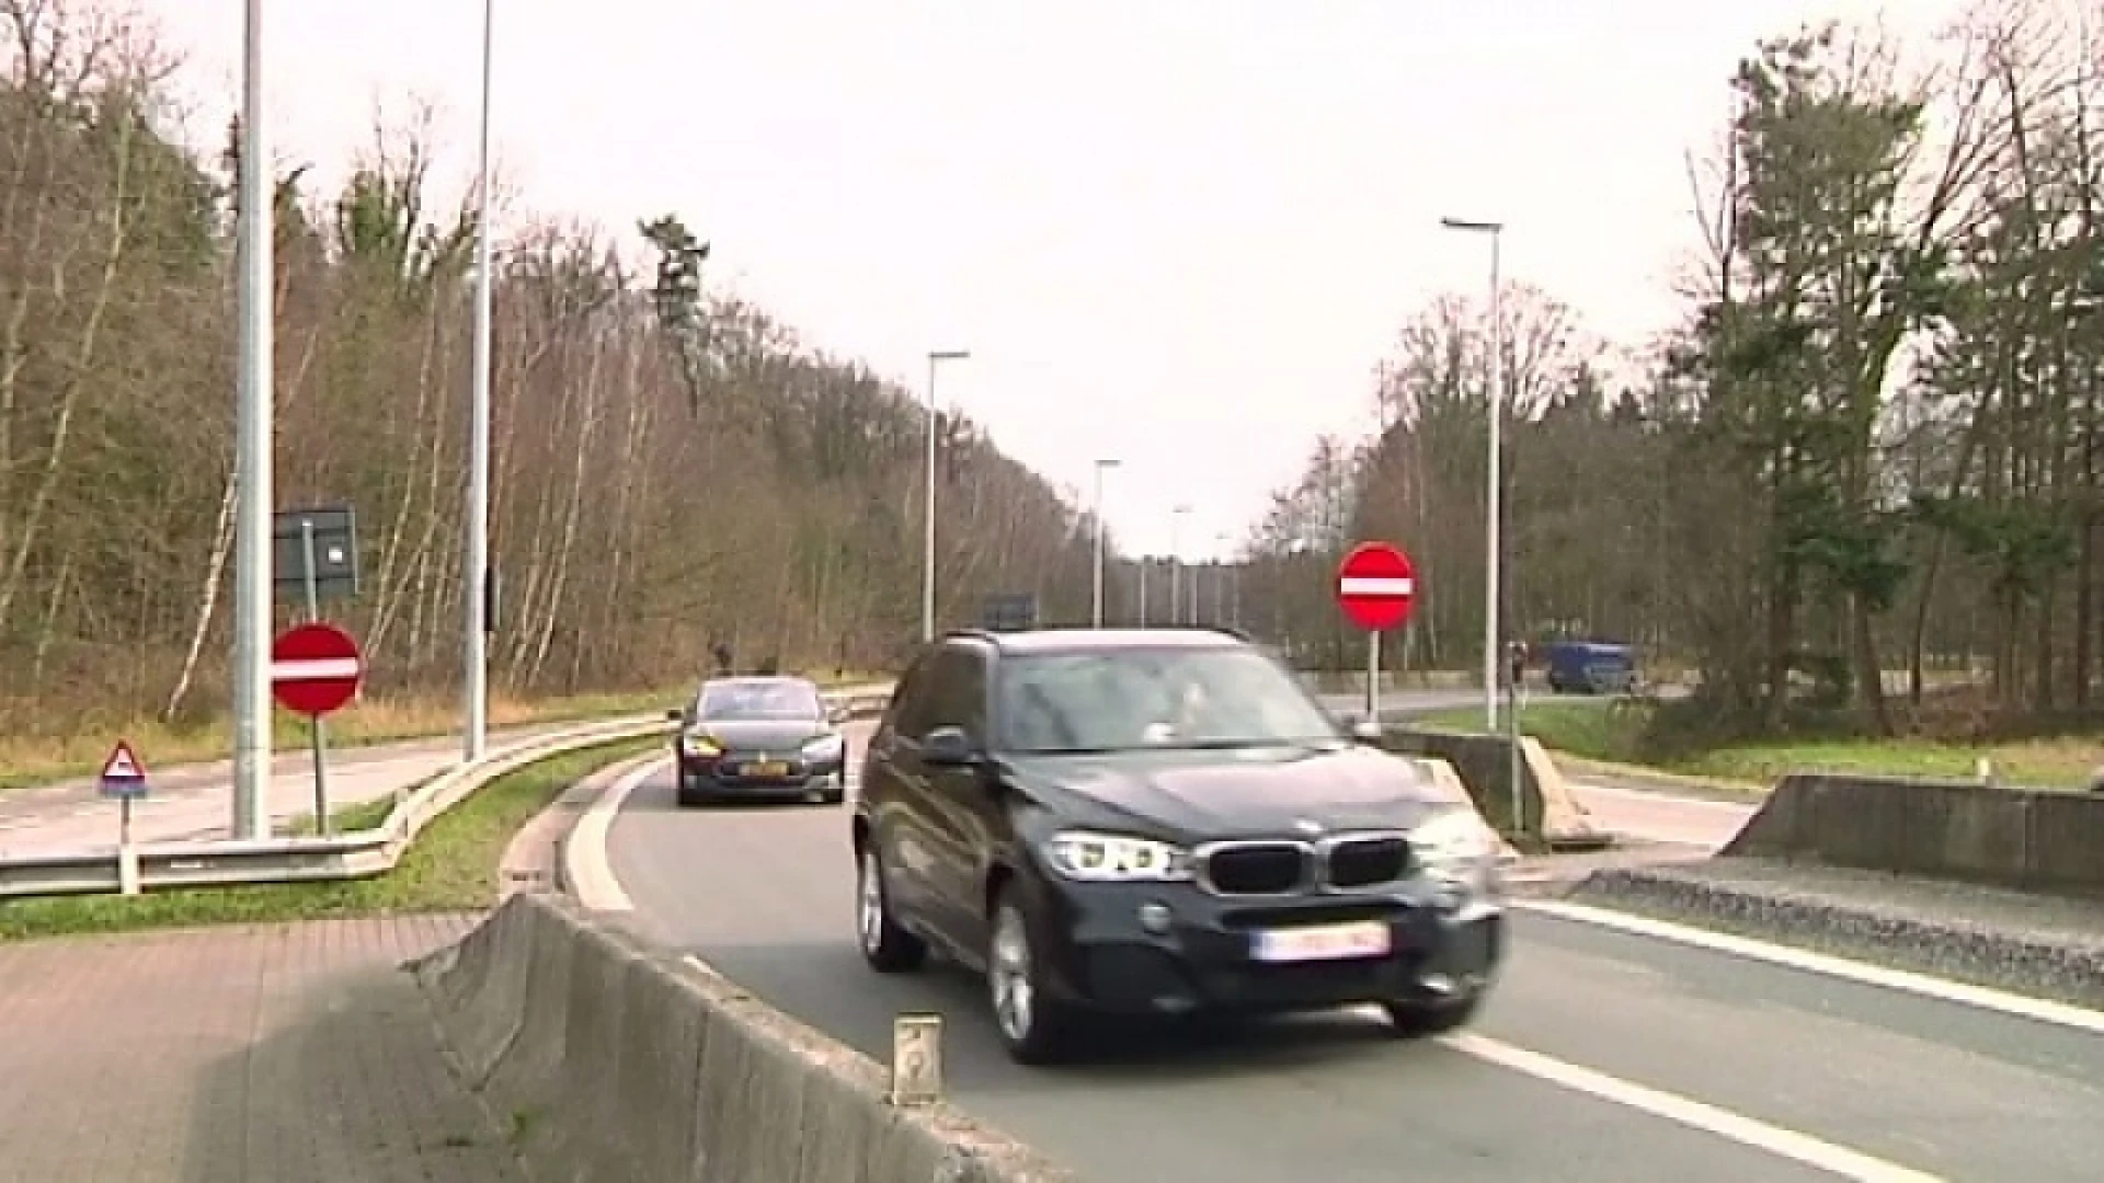
[{"label": "white line from the SUV's front wheel to the bottom edge", "polygon": [[1578,1067],[1576,1063],[1515,1048],[1513,1044],[1485,1036],[1441,1036],[1439,1042],[1483,1063],[1519,1071],[1559,1088],[1584,1092],[1586,1097],[1622,1105],[1626,1109],[1637,1109],[1639,1114],[1664,1118],[1694,1130],[1717,1135],[1816,1170],[1826,1170],[1828,1175],[1839,1175],[1843,1179],[1860,1179],[1864,1183],[1942,1183],[1936,1175],[1913,1170],[1881,1158],[1870,1158],[1868,1154],[1732,1114],[1729,1109],[1704,1105],[1702,1101],[1690,1101],[1687,1097],[1679,1097],[1675,1092],[1647,1088],[1603,1071],[1593,1071],[1591,1067]]}]

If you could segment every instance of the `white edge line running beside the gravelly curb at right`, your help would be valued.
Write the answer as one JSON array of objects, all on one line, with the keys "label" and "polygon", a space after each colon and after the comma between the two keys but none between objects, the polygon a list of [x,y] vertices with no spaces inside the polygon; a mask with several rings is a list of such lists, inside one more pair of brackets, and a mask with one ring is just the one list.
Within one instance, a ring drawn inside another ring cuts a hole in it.
[{"label": "white edge line running beside the gravelly curb at right", "polygon": [[1515,899],[1509,901],[1509,905],[1515,911],[1534,911],[1540,916],[1553,916],[1557,920],[1570,920],[1576,924],[1597,924],[1601,928],[1614,928],[1618,933],[1631,933],[1635,937],[1650,937],[1654,941],[1694,945],[1698,949],[1708,949],[1713,954],[1729,954],[1734,958],[1746,958],[1755,962],[1767,962],[1772,966],[1816,973],[1841,981],[1854,981],[1858,985],[1875,985],[1900,994],[1934,998],[1938,1002],[1955,1002],[1959,1006],[1978,1006],[1980,1010],[1995,1010],[1999,1015],[2011,1015],[2016,1019],[2032,1019],[2037,1023],[2051,1023],[2056,1027],[2070,1027],[2077,1031],[2087,1031],[2091,1036],[2104,1036],[2104,1010],[2089,1010],[2087,1006],[2072,1006],[2066,1002],[2051,1002],[2045,998],[2026,998],[2022,994],[1988,989],[1984,985],[1967,985],[1961,981],[1929,977],[1921,973],[1873,966],[1866,962],[1852,962],[1847,958],[1837,958],[1830,954],[1793,949],[1788,945],[1774,945],[1767,941],[1755,941],[1751,937],[1736,937],[1729,933],[1713,933],[1708,928],[1696,928],[1692,924],[1673,924],[1671,920],[1652,920],[1650,916],[1633,916],[1626,911],[1614,911],[1610,907],[1586,907],[1582,903],[1563,903],[1549,899]]}]

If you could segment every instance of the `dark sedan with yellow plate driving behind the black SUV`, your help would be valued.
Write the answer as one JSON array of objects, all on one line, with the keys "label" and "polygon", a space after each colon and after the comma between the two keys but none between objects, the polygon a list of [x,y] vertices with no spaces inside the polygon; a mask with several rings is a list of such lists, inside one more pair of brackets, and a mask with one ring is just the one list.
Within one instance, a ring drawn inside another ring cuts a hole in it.
[{"label": "dark sedan with yellow plate driving behind the black SUV", "polygon": [[680,804],[730,798],[848,796],[848,741],[825,695],[806,678],[711,678],[669,711]]}]

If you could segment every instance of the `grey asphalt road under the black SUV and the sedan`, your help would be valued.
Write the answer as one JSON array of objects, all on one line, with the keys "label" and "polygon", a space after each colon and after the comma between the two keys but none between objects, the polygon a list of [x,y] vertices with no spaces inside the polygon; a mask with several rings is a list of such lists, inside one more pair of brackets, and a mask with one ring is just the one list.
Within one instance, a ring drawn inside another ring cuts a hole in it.
[{"label": "grey asphalt road under the black SUV and the sedan", "polygon": [[2047,1183],[2104,1160],[2104,1038],[1540,914],[1460,1038],[1338,1015],[1020,1069],[976,981],[863,966],[846,810],[669,794],[644,783],[610,831],[633,924],[877,1059],[896,1012],[945,1015],[953,1097],[1084,1179]]}]

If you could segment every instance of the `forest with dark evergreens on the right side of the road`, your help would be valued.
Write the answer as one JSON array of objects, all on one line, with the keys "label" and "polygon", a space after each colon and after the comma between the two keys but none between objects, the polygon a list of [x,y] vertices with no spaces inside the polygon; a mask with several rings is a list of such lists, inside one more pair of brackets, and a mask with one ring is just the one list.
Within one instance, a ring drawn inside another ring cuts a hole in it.
[{"label": "forest with dark evergreens on the right side of the road", "polygon": [[1363,661],[1326,573],[1387,537],[1424,570],[1410,661],[1475,667],[1500,339],[1506,636],[1694,671],[1681,722],[1717,735],[2089,720],[2100,17],[1986,2],[1913,44],[1820,25],[1755,46],[1687,158],[1683,320],[1614,345],[1523,278],[1496,335],[1479,295],[1410,314],[1372,381],[1382,429],[1321,440],[1252,533],[1250,623]]}]

